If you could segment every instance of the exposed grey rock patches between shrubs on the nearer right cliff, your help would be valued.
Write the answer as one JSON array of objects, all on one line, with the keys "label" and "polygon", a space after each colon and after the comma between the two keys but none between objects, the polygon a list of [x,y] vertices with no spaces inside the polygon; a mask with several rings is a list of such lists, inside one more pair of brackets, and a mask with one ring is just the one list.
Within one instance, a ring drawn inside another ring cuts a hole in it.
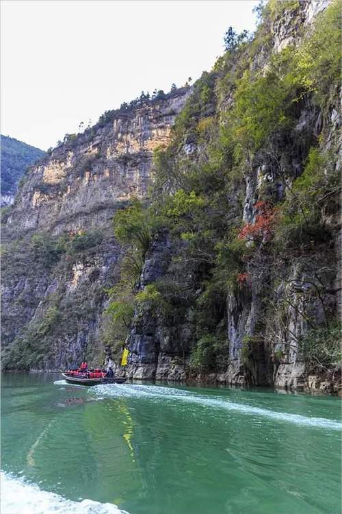
[{"label": "exposed grey rock patches between shrubs on the nearer right cliff", "polygon": [[[272,51],[279,53],[290,44],[298,42],[299,28],[310,25],[319,12],[329,5],[328,0],[313,0],[298,4],[293,10],[285,10],[282,16],[272,21]],[[259,48],[254,63],[255,69],[267,67],[265,50]],[[231,98],[222,106],[229,108]],[[313,105],[307,105],[298,116],[296,130],[308,138],[320,137],[322,151],[333,149],[336,156],[341,148],[339,129],[341,117],[337,108],[330,107],[328,121],[322,130],[321,113]],[[282,149],[278,158],[282,156]],[[200,160],[201,149],[193,141],[185,141],[183,154]],[[302,173],[302,162],[296,156],[289,164],[291,174],[285,182],[274,177],[267,158],[258,167],[245,173],[243,220],[255,223],[255,203],[265,184],[271,184],[278,201],[285,195],[285,188],[293,180],[293,171]],[[339,162],[337,159],[337,168]],[[338,171],[338,169],[336,169]],[[294,175],[295,175],[294,173]],[[286,182],[288,181],[288,182]],[[333,203],[333,202],[332,202]],[[279,260],[268,256],[257,264],[252,282],[226,297],[226,328],[229,341],[228,358],[222,357],[221,369],[211,374],[193,376],[197,380],[209,380],[224,384],[274,385],[284,389],[332,392],[341,387],[341,371],[326,376],[308,375],[308,369],[301,354],[299,341],[311,328],[311,321],[324,324],[326,317],[339,313],[341,304],[341,277],[339,273],[340,223],[339,210],[333,206],[331,217],[326,217],[326,228],[332,234],[328,247],[317,247],[310,256],[296,255]],[[150,247],[141,288],[160,279],[172,282],[172,256],[176,253],[174,242],[157,237]],[[318,272],[318,273],[317,273]],[[188,270],[189,273],[189,270]],[[317,297],[319,280],[324,282],[323,295]],[[184,283],[187,282],[186,277]],[[318,284],[318,285],[317,285]],[[198,288],[200,289],[200,283]],[[194,293],[196,295],[196,292]],[[272,312],[265,313],[265,298],[273,304]],[[305,313],[303,316],[302,314]],[[169,323],[166,317],[155,316],[152,309],[137,309],[133,319],[131,335],[127,340],[130,350],[128,374],[131,377],[158,380],[186,380],[192,376],[189,369],[190,354],[196,344],[194,323],[188,310],[181,319]],[[243,347],[248,343],[249,355],[243,356]],[[323,374],[324,375],[324,374]]]}]

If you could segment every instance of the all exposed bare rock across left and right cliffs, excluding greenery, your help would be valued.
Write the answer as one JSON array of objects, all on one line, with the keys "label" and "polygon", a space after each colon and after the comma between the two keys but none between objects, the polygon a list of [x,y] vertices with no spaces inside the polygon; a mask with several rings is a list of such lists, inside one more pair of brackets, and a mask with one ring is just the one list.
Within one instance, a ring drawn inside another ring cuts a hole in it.
[{"label": "all exposed bare rock across left and right cliffs, excluding greenery", "polygon": [[[272,18],[267,45],[257,48],[251,69],[266,70],[269,56],[298,42],[300,27],[309,26],[329,3],[291,2],[291,8]],[[84,134],[68,136],[27,173],[3,228],[5,367],[60,369],[85,358],[90,363],[101,360],[106,290],[118,282],[122,261],[111,219],[127,200],[148,196],[153,150],[168,145],[176,114],[191,94],[190,88],[182,88],[163,99],[114,112]],[[209,98],[207,90],[205,98]],[[206,106],[199,118],[210,123],[213,115],[223,116],[232,102],[228,92],[216,111]],[[298,112],[295,134],[306,138],[308,146],[311,140],[319,140],[321,149],[332,151],[335,159],[341,147],[340,126],[337,106],[331,105],[323,114],[308,102]],[[176,150],[180,159],[193,164],[205,161],[205,148],[192,136],[183,138]],[[280,165],[286,164],[282,178],[276,176],[266,155],[255,166],[246,162],[241,191],[231,192],[229,201],[240,206],[244,223],[255,223],[255,204],[265,188],[272,188],[279,202],[303,171],[298,153],[291,154],[280,143],[275,152]],[[337,159],[336,171],[338,166]],[[341,307],[338,210],[334,199],[322,207],[331,234],[328,243],[304,256],[295,249],[281,258],[259,252],[250,278],[224,291],[225,297],[217,302],[222,319],[218,333],[224,332],[226,342],[220,345],[215,369],[202,374],[190,366],[198,344],[194,306],[203,291],[200,273],[189,262],[184,269],[175,265],[182,242],[172,230],[159,230],[146,253],[138,289],[143,292],[158,282],[164,287],[168,308],[163,312],[150,304],[135,308],[125,342],[128,365],[117,365],[117,373],[137,379],[190,378],[336,392],[341,382],[339,367],[324,376],[308,373],[298,341],[313,319],[324,324]],[[184,291],[186,302],[181,301]],[[206,351],[207,343],[202,341]]]}]

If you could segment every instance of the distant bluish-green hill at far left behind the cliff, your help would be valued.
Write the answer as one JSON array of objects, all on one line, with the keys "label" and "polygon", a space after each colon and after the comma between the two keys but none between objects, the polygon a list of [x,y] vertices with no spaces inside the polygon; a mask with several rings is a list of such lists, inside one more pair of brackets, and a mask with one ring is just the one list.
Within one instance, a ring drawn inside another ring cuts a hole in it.
[{"label": "distant bluish-green hill at far left behind the cliff", "polygon": [[18,182],[28,166],[45,152],[1,134],[1,205],[12,204]]}]

